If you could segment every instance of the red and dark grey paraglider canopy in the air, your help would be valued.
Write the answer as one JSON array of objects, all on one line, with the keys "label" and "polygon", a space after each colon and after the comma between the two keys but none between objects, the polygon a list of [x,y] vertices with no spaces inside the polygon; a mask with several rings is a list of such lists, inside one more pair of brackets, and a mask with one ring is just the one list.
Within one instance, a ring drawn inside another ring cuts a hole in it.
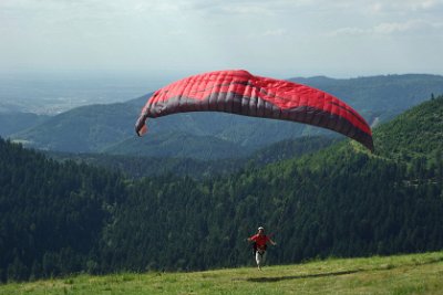
[{"label": "red and dark grey paraglider canopy in the air", "polygon": [[293,120],[343,134],[373,150],[368,123],[349,105],[322,91],[247,71],[218,71],[174,82],[147,99],[135,125],[142,135],[148,117],[185,112],[225,112]]}]

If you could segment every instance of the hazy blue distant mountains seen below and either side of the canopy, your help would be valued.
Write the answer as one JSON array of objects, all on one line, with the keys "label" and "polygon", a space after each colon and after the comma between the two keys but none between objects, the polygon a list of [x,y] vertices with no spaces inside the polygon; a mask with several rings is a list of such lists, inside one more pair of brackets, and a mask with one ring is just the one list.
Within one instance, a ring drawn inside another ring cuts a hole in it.
[{"label": "hazy blue distant mountains seen below and either side of the canopy", "polygon": [[[340,97],[372,125],[443,93],[443,76],[439,75],[347,80],[318,76],[290,81]],[[126,103],[82,106],[53,117],[25,119],[17,116],[16,123],[14,117],[9,117],[9,126],[17,128],[1,128],[0,135],[43,150],[196,159],[244,157],[274,143],[300,136],[336,136],[329,130],[290,122],[187,113],[148,120],[148,134],[137,138],[134,123],[147,97],[150,95]],[[1,114],[0,123],[4,120]]]}]

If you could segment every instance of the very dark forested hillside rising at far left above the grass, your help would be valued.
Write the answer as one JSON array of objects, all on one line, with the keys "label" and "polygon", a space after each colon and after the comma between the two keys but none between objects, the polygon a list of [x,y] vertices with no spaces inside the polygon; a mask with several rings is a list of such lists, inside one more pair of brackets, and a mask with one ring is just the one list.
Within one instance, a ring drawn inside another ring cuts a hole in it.
[{"label": "very dark forested hillside rising at far left above the grass", "polygon": [[61,165],[1,139],[1,280],[85,270],[124,193],[115,173]]}]

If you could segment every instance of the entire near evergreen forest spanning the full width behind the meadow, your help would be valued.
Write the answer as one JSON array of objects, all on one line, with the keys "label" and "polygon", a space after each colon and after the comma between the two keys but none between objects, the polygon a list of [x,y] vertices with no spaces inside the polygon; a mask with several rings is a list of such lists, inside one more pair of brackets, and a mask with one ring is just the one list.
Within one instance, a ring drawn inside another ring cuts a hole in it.
[{"label": "entire near evergreen forest spanning the full width behind the meadow", "polygon": [[248,265],[443,247],[443,97],[374,130],[228,176],[128,178],[0,140],[0,277]]}]

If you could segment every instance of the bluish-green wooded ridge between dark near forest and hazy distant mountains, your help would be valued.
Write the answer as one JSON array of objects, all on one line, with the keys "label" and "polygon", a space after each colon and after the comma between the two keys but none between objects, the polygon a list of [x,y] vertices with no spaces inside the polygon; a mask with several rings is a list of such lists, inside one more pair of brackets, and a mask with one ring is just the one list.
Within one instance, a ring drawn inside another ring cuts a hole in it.
[{"label": "bluish-green wooded ridge between dark near forest and hazy distant mountains", "polygon": [[[241,158],[245,154],[235,152],[226,148],[225,155],[233,155],[235,158],[219,160],[198,160],[189,157],[143,157],[123,156],[107,154],[66,154],[47,152],[48,156],[58,160],[72,159],[76,162],[85,162],[100,166],[111,170],[124,172],[132,178],[146,176],[189,176],[194,179],[209,178],[214,176],[231,175],[245,167],[262,167],[270,162],[299,157],[305,154],[315,152],[338,141],[328,137],[301,137],[298,139],[284,140],[254,152],[249,157]],[[140,145],[140,143],[138,143]],[[148,149],[146,147],[146,149]],[[208,150],[210,150],[208,148]],[[250,151],[249,151],[250,152]],[[181,154],[184,156],[185,154]]]}]

